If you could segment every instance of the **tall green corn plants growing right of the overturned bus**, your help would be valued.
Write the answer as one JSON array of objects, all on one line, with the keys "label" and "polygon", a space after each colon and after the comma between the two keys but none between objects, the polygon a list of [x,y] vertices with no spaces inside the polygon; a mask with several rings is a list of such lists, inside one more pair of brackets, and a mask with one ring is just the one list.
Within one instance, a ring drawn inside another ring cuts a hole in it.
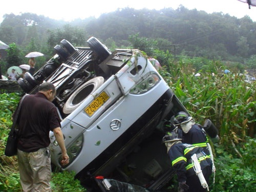
[{"label": "tall green corn plants growing right of the overturned bus", "polygon": [[[193,63],[170,63],[165,80],[186,109],[199,123],[208,118],[219,128],[224,143],[239,143],[245,136],[253,136],[255,126],[255,83],[247,83],[243,76],[223,74],[220,63],[200,71],[196,77]],[[215,73],[213,74],[212,71]]]}]

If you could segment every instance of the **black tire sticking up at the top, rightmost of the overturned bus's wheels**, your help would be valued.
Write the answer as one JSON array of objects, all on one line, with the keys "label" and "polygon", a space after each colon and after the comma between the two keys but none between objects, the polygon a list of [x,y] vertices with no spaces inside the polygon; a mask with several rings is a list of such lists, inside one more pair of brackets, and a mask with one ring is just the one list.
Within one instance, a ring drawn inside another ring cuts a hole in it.
[{"label": "black tire sticking up at the top, rightmost of the overturned bus's wheels", "polygon": [[94,53],[102,60],[106,59],[111,55],[111,51],[103,45],[97,38],[91,37],[87,40],[89,47],[94,51]]}]

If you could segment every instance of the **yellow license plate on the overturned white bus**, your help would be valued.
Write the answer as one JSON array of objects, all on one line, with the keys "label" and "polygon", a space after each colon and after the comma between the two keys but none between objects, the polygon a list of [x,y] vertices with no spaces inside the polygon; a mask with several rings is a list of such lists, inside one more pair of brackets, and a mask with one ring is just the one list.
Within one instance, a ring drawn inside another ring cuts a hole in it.
[{"label": "yellow license plate on the overturned white bus", "polygon": [[104,91],[96,97],[84,111],[89,115],[90,117],[100,108],[100,106],[106,102],[109,99],[109,95],[106,94]]}]

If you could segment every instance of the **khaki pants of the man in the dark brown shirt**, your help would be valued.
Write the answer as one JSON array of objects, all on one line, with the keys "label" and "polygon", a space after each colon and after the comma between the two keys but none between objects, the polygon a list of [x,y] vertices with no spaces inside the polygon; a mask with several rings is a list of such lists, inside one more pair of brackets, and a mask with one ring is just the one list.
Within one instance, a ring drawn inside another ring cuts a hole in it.
[{"label": "khaki pants of the man in the dark brown shirt", "polygon": [[18,150],[20,183],[24,192],[51,192],[51,158],[49,147],[27,153]]}]

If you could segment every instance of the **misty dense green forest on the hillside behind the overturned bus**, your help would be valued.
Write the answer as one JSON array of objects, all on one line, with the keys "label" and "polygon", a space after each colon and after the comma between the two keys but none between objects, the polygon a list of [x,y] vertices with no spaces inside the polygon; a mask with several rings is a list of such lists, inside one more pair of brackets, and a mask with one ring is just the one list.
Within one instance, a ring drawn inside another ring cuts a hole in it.
[{"label": "misty dense green forest on the hillside behind the overturned bus", "polygon": [[[153,56],[160,50],[175,57],[204,57],[256,68],[256,23],[248,16],[238,19],[183,6],[176,10],[124,8],[72,22],[32,13],[6,14],[0,25],[0,40],[15,44],[22,62],[30,51],[42,52],[49,59],[62,39],[88,47],[86,40],[91,36],[110,49],[133,47]],[[12,62],[7,61],[7,67],[14,65]]]}]

